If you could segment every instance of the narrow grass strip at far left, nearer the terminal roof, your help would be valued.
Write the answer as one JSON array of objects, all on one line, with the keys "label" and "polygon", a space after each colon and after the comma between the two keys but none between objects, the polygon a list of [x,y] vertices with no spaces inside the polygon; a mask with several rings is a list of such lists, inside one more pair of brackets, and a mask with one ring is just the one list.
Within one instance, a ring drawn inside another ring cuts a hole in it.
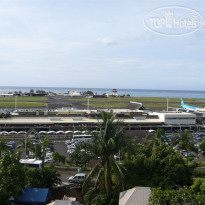
[{"label": "narrow grass strip at far left, nearer the terminal roof", "polygon": [[[29,108],[29,107],[46,107],[46,103],[41,103],[41,102],[18,102],[17,107],[18,108]],[[14,102],[0,102],[0,107],[6,107],[6,108],[11,108],[15,107]]]}]

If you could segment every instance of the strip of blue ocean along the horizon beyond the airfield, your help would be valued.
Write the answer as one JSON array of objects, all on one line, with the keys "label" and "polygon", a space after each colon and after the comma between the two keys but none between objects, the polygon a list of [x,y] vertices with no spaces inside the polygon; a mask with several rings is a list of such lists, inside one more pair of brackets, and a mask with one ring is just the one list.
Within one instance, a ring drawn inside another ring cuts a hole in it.
[{"label": "strip of blue ocean along the horizon beyond the airfield", "polygon": [[[0,86],[0,93],[8,93],[14,91],[29,92],[31,89],[51,91],[56,93],[67,93],[68,91],[88,91],[91,90],[97,94],[112,93],[112,88],[62,88],[62,87],[14,87],[14,86]],[[152,89],[117,89],[120,95],[129,94],[132,97],[183,97],[183,98],[205,98],[205,91],[191,91],[191,90],[152,90]]]}]

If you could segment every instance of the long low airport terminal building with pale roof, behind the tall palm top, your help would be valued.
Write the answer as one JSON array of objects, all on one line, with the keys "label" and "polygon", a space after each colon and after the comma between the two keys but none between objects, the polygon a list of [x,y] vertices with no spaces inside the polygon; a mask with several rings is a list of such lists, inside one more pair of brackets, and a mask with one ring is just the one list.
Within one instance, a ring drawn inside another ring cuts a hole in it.
[{"label": "long low airport terminal building with pale roof, behind the tall palm top", "polygon": [[[105,110],[110,111],[110,110]],[[75,130],[99,128],[101,110],[19,110],[17,113],[0,118],[0,131],[20,131],[35,128],[41,130]],[[149,112],[140,109],[113,109],[116,119],[123,122],[126,130],[200,129],[197,115],[187,112]]]}]

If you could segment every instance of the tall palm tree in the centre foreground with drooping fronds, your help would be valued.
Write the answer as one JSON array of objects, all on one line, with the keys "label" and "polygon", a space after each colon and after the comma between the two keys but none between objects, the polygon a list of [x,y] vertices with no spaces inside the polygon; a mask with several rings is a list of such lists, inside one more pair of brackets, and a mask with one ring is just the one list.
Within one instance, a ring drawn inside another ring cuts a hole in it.
[{"label": "tall palm tree in the centre foreground with drooping fronds", "polygon": [[[90,145],[91,151],[100,156],[99,162],[90,171],[86,178],[82,191],[85,192],[91,180],[97,176],[95,190],[105,190],[107,196],[111,195],[113,186],[123,188],[124,174],[114,159],[114,154],[119,151],[123,139],[123,129],[119,121],[115,121],[115,115],[102,111],[102,124],[100,133],[93,137]],[[116,180],[117,179],[117,180]]]}]

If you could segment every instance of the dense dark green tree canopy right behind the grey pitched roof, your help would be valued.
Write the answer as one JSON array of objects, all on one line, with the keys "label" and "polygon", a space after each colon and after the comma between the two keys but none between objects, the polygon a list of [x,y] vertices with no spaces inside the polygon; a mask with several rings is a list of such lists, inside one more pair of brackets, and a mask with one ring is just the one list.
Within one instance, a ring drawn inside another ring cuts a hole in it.
[{"label": "dense dark green tree canopy right behind the grey pitched roof", "polygon": [[126,188],[151,186],[177,188],[192,184],[192,169],[172,147],[155,142],[151,156],[137,154],[124,162]]}]

